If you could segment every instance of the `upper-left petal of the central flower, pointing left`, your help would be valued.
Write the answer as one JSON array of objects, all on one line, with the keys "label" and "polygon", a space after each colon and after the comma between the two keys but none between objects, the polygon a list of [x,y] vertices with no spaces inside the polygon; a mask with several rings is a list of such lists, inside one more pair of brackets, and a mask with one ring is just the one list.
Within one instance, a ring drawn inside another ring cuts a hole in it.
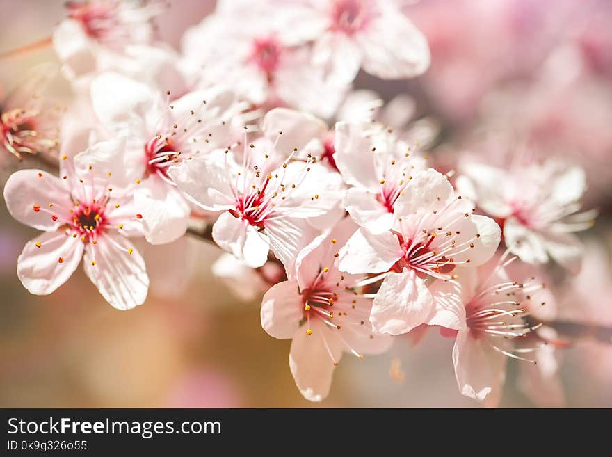
[{"label": "upper-left petal of the central flower, pointing left", "polygon": [[[209,211],[235,207],[230,188],[230,168],[225,166],[225,154],[211,154],[207,159],[186,160],[168,169],[168,175],[179,191],[191,202]],[[229,161],[230,159],[227,159]]]}]

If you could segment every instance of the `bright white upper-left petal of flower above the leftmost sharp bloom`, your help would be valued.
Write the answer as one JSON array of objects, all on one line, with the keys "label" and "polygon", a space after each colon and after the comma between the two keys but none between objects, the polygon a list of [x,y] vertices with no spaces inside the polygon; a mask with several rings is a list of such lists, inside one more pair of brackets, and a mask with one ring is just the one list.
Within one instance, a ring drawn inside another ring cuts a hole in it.
[{"label": "bright white upper-left petal of flower above the leftmost sharp bloom", "polygon": [[91,102],[102,124],[126,122],[144,117],[157,102],[157,93],[147,84],[106,72],[91,83]]}]

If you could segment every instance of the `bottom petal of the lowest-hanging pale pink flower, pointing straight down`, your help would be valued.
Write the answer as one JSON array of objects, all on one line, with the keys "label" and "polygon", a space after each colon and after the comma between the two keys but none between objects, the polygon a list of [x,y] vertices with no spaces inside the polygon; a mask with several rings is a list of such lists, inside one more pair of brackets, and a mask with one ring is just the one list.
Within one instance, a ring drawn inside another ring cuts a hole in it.
[{"label": "bottom petal of the lowest-hanging pale pink flower, pointing straight down", "polygon": [[321,323],[312,326],[312,335],[307,335],[302,326],[291,342],[289,368],[307,400],[321,401],[330,392],[335,364],[342,356],[342,342],[333,331]]}]

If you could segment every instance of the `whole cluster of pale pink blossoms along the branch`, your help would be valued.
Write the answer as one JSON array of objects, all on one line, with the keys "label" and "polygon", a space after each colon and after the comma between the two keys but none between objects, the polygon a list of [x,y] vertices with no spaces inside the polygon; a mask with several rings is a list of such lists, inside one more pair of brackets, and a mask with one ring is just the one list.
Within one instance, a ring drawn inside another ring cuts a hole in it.
[{"label": "whole cluster of pale pink blossoms along the branch", "polygon": [[153,26],[161,2],[67,3],[53,46],[70,103],[54,106],[39,67],[2,106],[6,153],[47,158],[3,191],[42,231],[17,259],[24,287],[51,294],[82,263],[130,310],[150,287],[138,246],[195,234],[225,251],[218,278],[261,298],[264,330],[291,339],[306,399],[328,396],[344,353],[434,327],[455,339],[466,396],[496,405],[510,358],[545,379],[561,344],[542,266],[581,268],[583,169],[518,151],[448,168],[414,100],[355,90],[357,74],[428,70],[401,1],[217,3],[181,51]]}]

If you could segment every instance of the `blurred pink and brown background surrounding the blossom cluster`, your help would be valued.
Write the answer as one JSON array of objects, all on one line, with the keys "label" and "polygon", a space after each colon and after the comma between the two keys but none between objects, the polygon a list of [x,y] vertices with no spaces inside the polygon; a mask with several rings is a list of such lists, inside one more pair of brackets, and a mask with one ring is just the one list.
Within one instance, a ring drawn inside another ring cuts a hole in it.
[{"label": "blurred pink and brown background surrounding the blossom cluster", "polygon": [[[63,3],[0,0],[0,53],[49,37],[64,17]],[[428,38],[430,70],[408,82],[360,74],[355,87],[373,88],[387,100],[414,97],[417,116],[440,128],[430,153],[440,170],[462,154],[495,163],[524,145],[583,166],[585,209],[597,207],[600,216],[581,234],[588,246],[584,271],[563,284],[571,293],[559,293],[558,303],[567,316],[612,326],[612,2],[412,3],[405,13]],[[157,19],[159,38],[179,49],[184,29],[213,8],[214,1],[172,0]],[[2,58],[0,93],[10,93],[29,67],[46,61],[56,61],[50,47]],[[62,99],[67,90],[58,85],[51,95]],[[0,164],[1,182],[19,166],[6,157]],[[32,296],[15,270],[35,233],[13,221],[2,201],[0,406],[476,406],[458,392],[453,340],[436,331],[418,342],[414,335],[398,337],[378,357],[345,355],[328,399],[304,400],[289,371],[290,342],[261,329],[258,298],[239,300],[213,278],[220,250],[195,239],[166,250],[145,248],[150,274],[165,280],[154,281],[150,298],[135,310],[114,310],[80,268],[51,296]],[[612,344],[585,337],[558,360],[554,388],[567,406],[612,406]],[[522,365],[510,360],[501,406],[536,406],[533,390],[522,388],[529,378]]]}]

